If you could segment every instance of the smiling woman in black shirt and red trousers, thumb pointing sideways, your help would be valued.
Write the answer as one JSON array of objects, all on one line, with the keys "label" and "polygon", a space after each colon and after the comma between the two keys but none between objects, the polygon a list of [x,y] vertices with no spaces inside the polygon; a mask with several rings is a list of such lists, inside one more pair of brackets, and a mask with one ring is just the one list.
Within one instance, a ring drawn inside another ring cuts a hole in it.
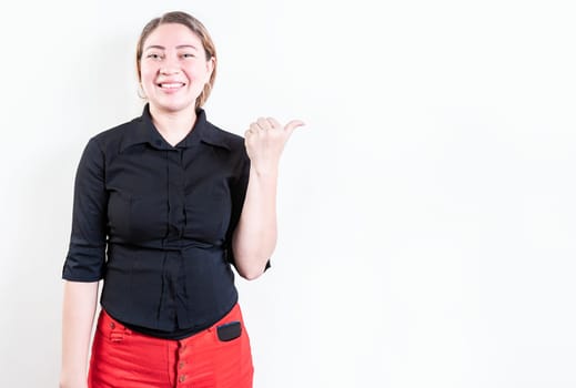
[{"label": "smiling woman in black shirt and red trousers, thumb pointing sideways", "polygon": [[201,106],[216,63],[190,14],[151,20],[137,45],[142,116],[88,142],[62,275],[62,388],[252,386],[231,265],[246,279],[267,268],[279,160],[303,123],[261,118],[245,139],[212,125]]}]

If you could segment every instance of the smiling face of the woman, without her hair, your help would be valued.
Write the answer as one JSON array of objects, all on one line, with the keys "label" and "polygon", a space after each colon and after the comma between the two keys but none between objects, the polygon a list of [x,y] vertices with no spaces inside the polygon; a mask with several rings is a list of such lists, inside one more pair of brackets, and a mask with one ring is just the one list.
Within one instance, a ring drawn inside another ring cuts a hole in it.
[{"label": "smiling face of the woman, without her hair", "polygon": [[193,110],[213,69],[214,58],[206,60],[202,41],[183,24],[160,24],[144,41],[142,89],[151,108],[159,111]]}]

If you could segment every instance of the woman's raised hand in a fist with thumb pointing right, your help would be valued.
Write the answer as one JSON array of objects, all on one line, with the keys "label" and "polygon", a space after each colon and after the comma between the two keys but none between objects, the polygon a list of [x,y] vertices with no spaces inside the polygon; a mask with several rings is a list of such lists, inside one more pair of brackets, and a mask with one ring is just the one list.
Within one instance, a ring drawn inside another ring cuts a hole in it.
[{"label": "woman's raised hand in a fist with thumb pointing right", "polygon": [[256,122],[250,124],[244,137],[251,166],[256,173],[275,174],[277,172],[284,145],[292,132],[302,125],[304,125],[302,121],[292,120],[282,126],[273,118],[260,118]]}]

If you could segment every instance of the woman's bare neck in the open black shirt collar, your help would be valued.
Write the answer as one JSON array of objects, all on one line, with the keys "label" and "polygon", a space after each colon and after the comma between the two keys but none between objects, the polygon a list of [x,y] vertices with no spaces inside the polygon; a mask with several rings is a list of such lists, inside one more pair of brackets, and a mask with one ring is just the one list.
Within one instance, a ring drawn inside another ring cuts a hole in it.
[{"label": "woman's bare neck in the open black shirt collar", "polygon": [[166,112],[156,106],[150,105],[152,123],[164,140],[172,146],[180,143],[194,126],[196,122],[195,106],[178,112]]}]

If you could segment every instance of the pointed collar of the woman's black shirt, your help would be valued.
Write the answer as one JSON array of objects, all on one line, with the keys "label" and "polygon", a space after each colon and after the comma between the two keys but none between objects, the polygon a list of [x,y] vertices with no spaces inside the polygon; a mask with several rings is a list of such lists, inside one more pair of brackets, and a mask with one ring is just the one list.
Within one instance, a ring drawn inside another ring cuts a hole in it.
[{"label": "pointed collar of the woman's black shirt", "polygon": [[174,150],[186,149],[193,144],[204,143],[212,146],[231,150],[226,139],[222,135],[222,131],[216,129],[206,120],[206,113],[203,109],[196,109],[196,122],[192,131],[176,146],[170,145],[158,132],[152,123],[150,115],[150,106],[145,104],[142,115],[132,121],[133,125],[125,133],[120,145],[120,152],[131,145],[148,143],[156,150]]}]

